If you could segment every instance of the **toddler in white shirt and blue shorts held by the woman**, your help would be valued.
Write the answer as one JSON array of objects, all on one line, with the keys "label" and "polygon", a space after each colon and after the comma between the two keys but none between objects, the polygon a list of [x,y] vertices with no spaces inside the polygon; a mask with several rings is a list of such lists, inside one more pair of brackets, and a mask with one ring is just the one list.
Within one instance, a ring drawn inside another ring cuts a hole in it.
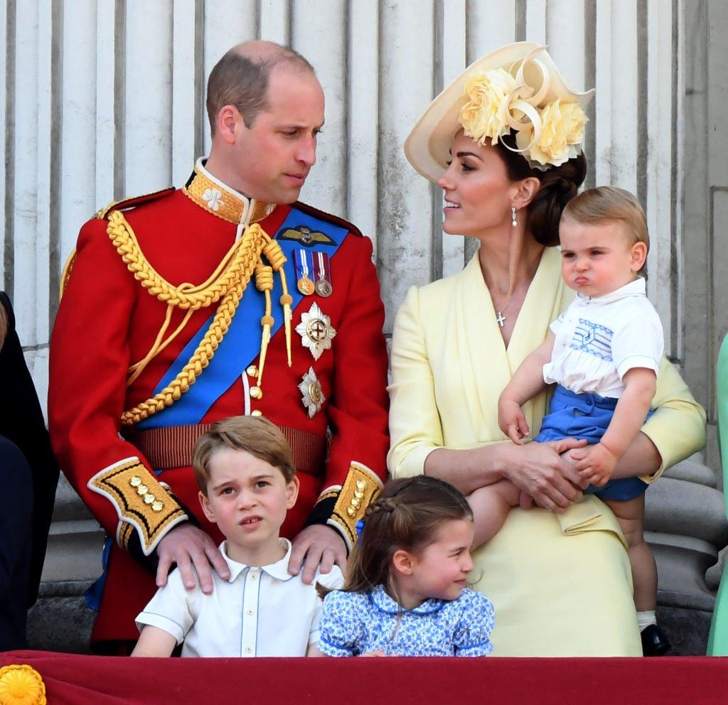
[{"label": "toddler in white shirt and blue shorts held by the woman", "polygon": [[[593,188],[566,205],[559,237],[563,279],[577,297],[506,386],[498,423],[520,445],[530,432],[521,406],[548,384],[558,385],[534,440],[574,437],[590,444],[574,454],[590,482],[585,492],[604,500],[620,522],[645,651],[664,653],[669,644],[654,626],[657,568],[643,536],[647,484],[638,477],[612,479],[649,414],[662,358],[660,318],[638,276],[649,249],[644,212],[628,191]],[[518,490],[506,481],[470,495],[475,515],[485,517],[475,545],[499,530],[518,501]]]}]

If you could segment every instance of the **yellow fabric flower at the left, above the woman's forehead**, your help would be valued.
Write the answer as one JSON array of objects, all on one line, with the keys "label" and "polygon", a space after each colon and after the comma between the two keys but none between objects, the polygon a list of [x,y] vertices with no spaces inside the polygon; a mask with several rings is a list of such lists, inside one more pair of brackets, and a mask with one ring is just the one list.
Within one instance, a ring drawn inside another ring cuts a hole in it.
[{"label": "yellow fabric flower at the left, above the woman's forehead", "polygon": [[515,78],[505,69],[473,73],[465,84],[467,103],[460,111],[460,124],[467,137],[480,144],[498,139],[509,131],[508,97],[515,90]]}]

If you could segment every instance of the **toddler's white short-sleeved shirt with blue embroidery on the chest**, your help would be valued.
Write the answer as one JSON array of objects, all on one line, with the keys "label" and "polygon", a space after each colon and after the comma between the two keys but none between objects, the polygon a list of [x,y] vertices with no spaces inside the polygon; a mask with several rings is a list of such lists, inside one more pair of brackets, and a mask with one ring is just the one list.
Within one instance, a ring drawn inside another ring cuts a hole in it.
[{"label": "toddler's white short-sleeved shirt with blue embroidery on the chest", "polygon": [[660,369],[662,324],[641,276],[604,296],[577,294],[550,328],[556,338],[543,370],[547,384],[619,398],[628,370]]}]

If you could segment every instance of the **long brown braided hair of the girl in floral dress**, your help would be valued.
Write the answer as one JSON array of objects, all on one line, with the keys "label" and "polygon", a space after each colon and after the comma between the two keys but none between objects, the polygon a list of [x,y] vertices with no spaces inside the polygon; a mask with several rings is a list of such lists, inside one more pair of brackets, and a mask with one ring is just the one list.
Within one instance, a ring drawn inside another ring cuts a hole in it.
[{"label": "long brown braided hair of the girl in floral dress", "polygon": [[367,507],[343,590],[365,592],[387,585],[395,552],[422,551],[435,541],[438,528],[453,519],[472,520],[472,510],[447,482],[425,475],[388,482]]}]

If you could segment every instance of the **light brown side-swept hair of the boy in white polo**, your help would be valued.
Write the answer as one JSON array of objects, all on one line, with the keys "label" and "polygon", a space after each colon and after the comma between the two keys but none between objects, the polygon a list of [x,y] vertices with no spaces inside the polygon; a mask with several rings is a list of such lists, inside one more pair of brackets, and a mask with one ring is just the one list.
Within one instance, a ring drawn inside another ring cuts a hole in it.
[{"label": "light brown side-swept hair of the boy in white polo", "polygon": [[245,450],[281,471],[286,484],[296,477],[290,445],[278,426],[262,416],[232,416],[213,423],[192,450],[192,469],[197,487],[207,494],[210,462],[223,448]]}]

